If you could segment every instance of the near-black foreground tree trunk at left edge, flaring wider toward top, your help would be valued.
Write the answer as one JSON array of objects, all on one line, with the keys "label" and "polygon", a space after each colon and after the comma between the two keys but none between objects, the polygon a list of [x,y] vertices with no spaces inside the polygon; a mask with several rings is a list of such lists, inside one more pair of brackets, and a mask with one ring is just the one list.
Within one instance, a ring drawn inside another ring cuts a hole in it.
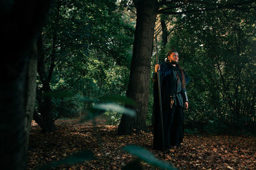
[{"label": "near-black foreground tree trunk at left edge, flaring wider toward top", "polygon": [[2,169],[26,169],[26,69],[50,1],[0,1],[0,6],[0,163]]}]

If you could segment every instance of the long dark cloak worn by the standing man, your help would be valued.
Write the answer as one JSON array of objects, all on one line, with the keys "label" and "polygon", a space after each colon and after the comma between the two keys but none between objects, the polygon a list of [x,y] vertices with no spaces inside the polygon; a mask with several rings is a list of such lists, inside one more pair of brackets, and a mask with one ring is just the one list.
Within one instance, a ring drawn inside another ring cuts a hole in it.
[{"label": "long dark cloak worn by the standing man", "polygon": [[[184,71],[183,71],[184,72]],[[161,80],[161,98],[162,98],[162,110],[163,110],[163,122],[166,123],[166,119],[170,117],[170,113],[173,113],[174,110],[179,110],[179,122],[173,119],[172,129],[170,136],[164,136],[165,149],[170,148],[172,145],[180,145],[184,138],[184,117],[183,117],[183,107],[184,101],[186,99],[185,92],[186,88],[183,88],[181,85],[182,74],[180,73],[180,68],[172,66],[170,62],[164,62],[160,64],[159,76]],[[186,83],[188,83],[188,76],[184,72]],[[163,150],[163,141],[162,141],[162,131],[161,131],[161,118],[160,118],[160,108],[159,108],[159,92],[158,92],[158,83],[157,83],[157,74],[154,73],[154,104],[153,104],[153,116],[154,116],[154,149]],[[174,96],[175,102],[173,108],[170,108],[171,97]],[[177,129],[175,126],[179,124],[180,128]],[[165,134],[164,128],[164,134]],[[173,134],[179,134],[175,138]],[[168,142],[167,142],[168,141]]]}]

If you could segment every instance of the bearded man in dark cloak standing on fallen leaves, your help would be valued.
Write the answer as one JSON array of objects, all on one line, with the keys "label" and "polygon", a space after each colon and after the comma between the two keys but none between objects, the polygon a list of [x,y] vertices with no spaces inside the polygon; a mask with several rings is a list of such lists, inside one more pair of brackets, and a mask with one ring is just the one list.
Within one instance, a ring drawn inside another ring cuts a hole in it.
[{"label": "bearded man in dark cloak standing on fallen leaves", "polygon": [[161,80],[164,148],[180,146],[184,137],[183,110],[188,110],[186,73],[179,66],[179,53],[168,52],[168,61],[155,66],[154,81],[154,149],[163,150],[157,71]]}]

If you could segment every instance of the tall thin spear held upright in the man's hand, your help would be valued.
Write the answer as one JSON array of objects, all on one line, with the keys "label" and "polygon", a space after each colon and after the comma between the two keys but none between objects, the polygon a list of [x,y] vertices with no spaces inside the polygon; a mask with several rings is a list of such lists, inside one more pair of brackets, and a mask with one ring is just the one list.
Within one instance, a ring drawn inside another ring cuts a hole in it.
[{"label": "tall thin spear held upright in the man's hand", "polygon": [[[159,59],[157,55],[157,34],[156,34],[156,64],[159,64]],[[158,94],[159,94],[159,108],[160,108],[160,124],[161,124],[161,131],[162,131],[162,141],[163,141],[163,155],[165,159],[165,148],[164,148],[164,125],[163,125],[163,110],[162,110],[162,97],[161,97],[161,84],[160,84],[160,75],[159,71],[157,71],[157,81],[158,81]]]}]

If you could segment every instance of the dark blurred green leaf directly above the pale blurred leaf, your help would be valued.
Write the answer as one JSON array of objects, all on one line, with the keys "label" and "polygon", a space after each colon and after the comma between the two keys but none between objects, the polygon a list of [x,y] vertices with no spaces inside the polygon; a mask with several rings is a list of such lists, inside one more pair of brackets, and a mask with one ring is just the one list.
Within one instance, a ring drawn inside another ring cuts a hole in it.
[{"label": "dark blurred green leaf directly above the pale blurred leaf", "polygon": [[100,100],[104,102],[124,103],[131,106],[136,106],[135,101],[126,96],[104,96],[100,97]]}]

